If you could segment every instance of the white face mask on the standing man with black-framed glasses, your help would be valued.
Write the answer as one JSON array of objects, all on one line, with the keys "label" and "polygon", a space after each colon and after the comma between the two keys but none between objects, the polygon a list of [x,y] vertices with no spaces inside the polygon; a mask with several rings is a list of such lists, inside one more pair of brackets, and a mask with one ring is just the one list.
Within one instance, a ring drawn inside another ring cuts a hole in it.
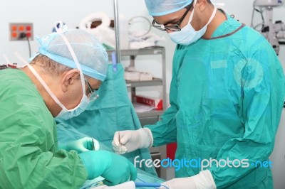
[{"label": "white face mask on the standing man with black-framed glasses", "polygon": [[[194,6],[196,5],[197,0],[194,1]],[[175,31],[172,33],[168,33],[168,35],[170,36],[171,40],[174,43],[180,44],[180,45],[190,45],[192,43],[195,43],[196,41],[199,40],[199,38],[202,38],[202,36],[204,36],[204,33],[206,33],[207,31],[207,26],[209,25],[209,23],[212,21],[212,19],[214,18],[214,15],[216,14],[217,11],[217,7],[214,6],[214,11],[212,13],[211,18],[209,18],[208,23],[199,31],[195,31],[195,29],[191,26],[191,21],[193,18],[193,14],[194,14],[194,9],[190,15],[190,19],[188,24],[183,27],[181,29],[181,31]]]}]

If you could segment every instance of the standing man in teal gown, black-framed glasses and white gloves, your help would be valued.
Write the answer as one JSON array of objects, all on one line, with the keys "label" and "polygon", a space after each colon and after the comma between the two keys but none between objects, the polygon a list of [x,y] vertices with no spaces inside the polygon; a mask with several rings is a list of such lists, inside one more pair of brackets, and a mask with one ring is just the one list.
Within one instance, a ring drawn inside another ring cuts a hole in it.
[{"label": "standing man in teal gown, black-framed glasses and white gloves", "polygon": [[120,131],[124,151],[177,142],[172,189],[273,188],[269,156],[285,93],[274,49],[209,0],[145,4],[152,25],[177,43],[171,106],[154,125]]}]

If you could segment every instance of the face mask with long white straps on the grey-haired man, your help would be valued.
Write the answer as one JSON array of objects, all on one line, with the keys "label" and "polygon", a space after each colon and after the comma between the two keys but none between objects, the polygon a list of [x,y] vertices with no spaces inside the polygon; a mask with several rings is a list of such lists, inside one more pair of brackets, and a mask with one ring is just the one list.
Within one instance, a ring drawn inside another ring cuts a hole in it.
[{"label": "face mask with long white straps on the grey-haired man", "polygon": [[[63,24],[63,23],[60,23]],[[58,100],[58,98],[56,97],[56,95],[53,94],[53,92],[49,89],[48,85],[46,85],[46,82],[43,81],[43,79],[41,78],[40,75],[38,75],[38,73],[36,72],[35,69],[33,69],[33,67],[31,65],[29,65],[26,60],[24,60],[24,58],[21,58],[20,55],[16,56],[19,58],[19,60],[21,60],[22,62],[24,62],[28,68],[31,70],[31,72],[33,72],[33,75],[36,76],[36,78],[38,79],[39,82],[41,82],[41,85],[43,85],[43,87],[46,89],[46,91],[48,92],[49,95],[51,95],[51,97],[53,98],[53,100],[56,102],[56,104],[58,104],[58,106],[60,106],[62,108],[61,112],[59,112],[59,114],[56,116],[56,118],[60,118],[60,119],[70,119],[71,117],[76,117],[79,114],[81,114],[86,107],[88,107],[88,104],[90,102],[90,99],[88,99],[88,97],[86,96],[86,90],[85,90],[85,80],[84,80],[84,76],[83,76],[83,72],[81,70],[81,65],[79,65],[78,60],[76,58],[76,54],[73,51],[73,48],[71,47],[70,43],[68,42],[66,36],[64,36],[63,34],[63,30],[62,27],[57,28],[57,32],[60,34],[61,38],[63,38],[63,41],[66,42],[66,45],[73,57],[74,62],[76,63],[76,67],[78,68],[79,72],[80,72],[80,77],[81,77],[81,85],[82,85],[82,90],[83,90],[83,97],[81,99],[81,102],[77,105],[77,107],[73,108],[73,109],[66,109],[66,107],[64,107],[64,105]],[[63,28],[64,29],[64,28]]]}]

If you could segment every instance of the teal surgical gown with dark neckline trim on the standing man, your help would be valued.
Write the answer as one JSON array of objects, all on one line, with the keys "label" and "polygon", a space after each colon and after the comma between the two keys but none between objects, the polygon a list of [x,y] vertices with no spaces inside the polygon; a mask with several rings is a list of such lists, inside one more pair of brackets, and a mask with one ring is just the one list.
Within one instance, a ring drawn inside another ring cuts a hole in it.
[{"label": "teal surgical gown with dark neckline trim on the standing man", "polygon": [[[177,141],[178,160],[222,160],[207,167],[217,188],[273,188],[270,168],[255,166],[274,148],[284,104],[284,72],[266,39],[227,15],[212,38],[177,45],[172,68],[171,106],[147,126],[154,146]],[[224,166],[227,158],[239,161]],[[189,164],[176,176],[201,171]]]}]

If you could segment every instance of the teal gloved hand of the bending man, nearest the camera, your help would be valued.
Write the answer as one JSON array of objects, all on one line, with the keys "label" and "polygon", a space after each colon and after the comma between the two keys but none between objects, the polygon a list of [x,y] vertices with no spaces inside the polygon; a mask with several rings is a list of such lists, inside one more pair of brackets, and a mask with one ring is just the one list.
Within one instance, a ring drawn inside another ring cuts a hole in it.
[{"label": "teal gloved hand of the bending man, nearest the camera", "polygon": [[84,151],[78,154],[88,172],[88,179],[98,176],[105,178],[105,185],[117,185],[135,180],[137,170],[124,156],[110,151]]}]

